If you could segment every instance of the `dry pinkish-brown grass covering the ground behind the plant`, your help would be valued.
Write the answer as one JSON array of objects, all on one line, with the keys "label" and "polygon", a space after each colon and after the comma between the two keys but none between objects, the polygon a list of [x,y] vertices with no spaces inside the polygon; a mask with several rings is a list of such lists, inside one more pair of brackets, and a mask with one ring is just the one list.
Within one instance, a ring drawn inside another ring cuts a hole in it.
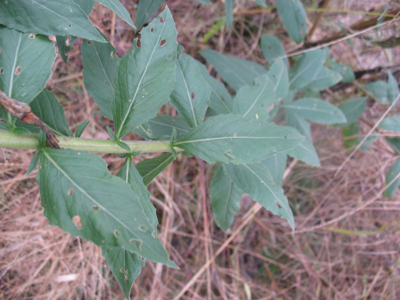
[{"label": "dry pinkish-brown grass covering the ground behind the plant", "polygon": [[[131,1],[125,2],[134,11]],[[238,9],[253,5],[237,2]],[[332,7],[338,5],[331,2]],[[361,1],[345,2],[346,9],[367,10],[380,7],[385,1],[362,1],[362,5]],[[227,35],[219,32],[203,45],[202,35],[223,13],[222,3],[198,9],[194,1],[171,0],[168,5],[177,23],[178,41],[191,55],[209,46],[265,63],[258,46],[258,39],[265,32],[281,37],[287,51],[297,47],[284,36],[274,13],[238,15],[233,30]],[[310,24],[315,16],[309,14]],[[332,19],[337,17],[344,22],[354,20],[345,14],[329,13],[317,27],[315,37],[326,26],[336,25]],[[114,42],[119,54],[128,50],[133,34],[122,21],[116,18],[113,23],[113,14],[99,5],[95,6],[92,19]],[[382,32],[394,34],[389,30],[395,27],[390,25]],[[357,47],[365,44],[362,39],[355,39],[354,43],[356,47],[345,42],[333,46],[333,55],[356,69],[370,68],[376,61],[379,65],[400,63],[399,47],[389,50],[391,56],[379,53],[376,58],[370,52],[359,53]],[[376,47],[372,50],[376,51]],[[48,88],[61,99],[72,129],[81,121],[91,120],[86,136],[107,138],[102,127],[104,119],[94,114],[97,108],[83,88],[80,72],[75,46],[66,66],[57,57]],[[354,92],[352,86],[326,96],[340,100]],[[363,115],[363,132],[370,129],[384,109],[376,103],[368,107]],[[260,210],[182,299],[400,298],[399,193],[392,198],[380,195],[385,171],[395,155],[379,137],[367,150],[357,151],[334,177],[348,154],[342,146],[340,128],[314,125],[313,138],[321,168],[297,162],[284,183],[295,212],[294,234],[284,220]],[[34,181],[36,171],[25,175],[31,155],[30,150],[0,149],[0,298],[122,299],[101,250],[50,226],[44,218]],[[113,167],[121,163],[112,155],[104,157]],[[180,270],[146,261],[133,284],[132,299],[171,299],[229,236],[212,219],[207,199],[211,177],[209,165],[179,156],[149,185],[161,238]],[[229,233],[243,224],[252,204],[248,196],[243,196]]]}]

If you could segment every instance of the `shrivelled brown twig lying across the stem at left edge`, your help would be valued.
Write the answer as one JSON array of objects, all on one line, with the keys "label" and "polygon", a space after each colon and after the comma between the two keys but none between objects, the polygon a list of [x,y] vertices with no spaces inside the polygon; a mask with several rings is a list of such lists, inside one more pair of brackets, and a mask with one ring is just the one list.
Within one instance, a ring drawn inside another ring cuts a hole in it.
[{"label": "shrivelled brown twig lying across the stem at left edge", "polygon": [[30,106],[24,102],[19,102],[8,97],[0,90],[0,104],[13,116],[22,122],[39,126],[46,134],[46,142],[51,148],[59,149],[58,140],[53,131],[51,131],[38,117],[35,115]]}]

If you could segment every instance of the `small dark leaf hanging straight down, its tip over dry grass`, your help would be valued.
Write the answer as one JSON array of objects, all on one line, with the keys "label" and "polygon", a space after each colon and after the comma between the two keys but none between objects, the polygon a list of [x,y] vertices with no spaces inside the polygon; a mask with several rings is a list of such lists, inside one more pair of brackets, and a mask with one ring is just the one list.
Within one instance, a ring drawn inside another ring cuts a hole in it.
[{"label": "small dark leaf hanging straight down, its tip over dry grass", "polygon": [[239,210],[242,194],[243,191],[224,174],[222,167],[219,166],[210,181],[209,200],[215,222],[225,232]]}]

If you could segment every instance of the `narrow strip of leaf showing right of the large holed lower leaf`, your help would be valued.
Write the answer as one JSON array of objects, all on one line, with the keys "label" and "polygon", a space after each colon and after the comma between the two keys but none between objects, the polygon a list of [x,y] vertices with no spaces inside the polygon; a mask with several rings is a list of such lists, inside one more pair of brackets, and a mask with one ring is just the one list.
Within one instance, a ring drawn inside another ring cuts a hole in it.
[{"label": "narrow strip of leaf showing right of the large holed lower leaf", "polygon": [[132,158],[129,155],[126,157],[122,167],[118,170],[116,175],[129,183],[130,188],[137,196],[140,205],[136,207],[136,209],[147,217],[148,222],[151,224],[151,230],[156,232],[158,220],[155,207],[150,202],[150,193],[148,192],[146,185],[143,183],[143,178],[133,165]]}]

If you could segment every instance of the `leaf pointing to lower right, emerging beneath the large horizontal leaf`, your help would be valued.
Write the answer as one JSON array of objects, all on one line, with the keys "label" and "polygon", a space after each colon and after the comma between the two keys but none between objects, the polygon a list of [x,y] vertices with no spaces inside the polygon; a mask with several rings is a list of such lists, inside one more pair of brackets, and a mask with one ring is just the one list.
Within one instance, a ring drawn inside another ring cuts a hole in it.
[{"label": "leaf pointing to lower right, emerging beneath the large horizontal leaf", "polygon": [[268,169],[261,162],[223,165],[233,182],[272,213],[286,219],[294,230],[294,217],[282,187],[273,182]]}]

